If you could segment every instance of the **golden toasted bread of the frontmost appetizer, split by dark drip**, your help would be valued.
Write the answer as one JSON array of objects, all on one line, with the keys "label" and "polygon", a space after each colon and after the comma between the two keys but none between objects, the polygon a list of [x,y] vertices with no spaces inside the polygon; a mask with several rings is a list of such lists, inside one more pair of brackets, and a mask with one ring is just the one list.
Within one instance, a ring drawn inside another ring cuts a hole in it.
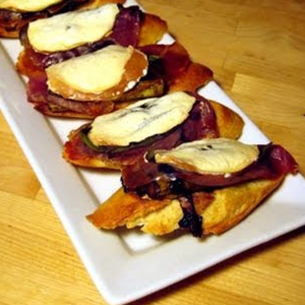
[{"label": "golden toasted bread of the frontmost appetizer, split by dark drip", "polygon": [[[203,234],[221,234],[234,227],[274,191],[282,180],[283,176],[275,180],[246,182],[208,194],[194,194],[195,209],[203,218]],[[140,227],[145,233],[164,235],[179,229],[182,217],[183,212],[177,199],[143,199],[134,193],[125,193],[120,188],[87,219],[97,228]]]}]

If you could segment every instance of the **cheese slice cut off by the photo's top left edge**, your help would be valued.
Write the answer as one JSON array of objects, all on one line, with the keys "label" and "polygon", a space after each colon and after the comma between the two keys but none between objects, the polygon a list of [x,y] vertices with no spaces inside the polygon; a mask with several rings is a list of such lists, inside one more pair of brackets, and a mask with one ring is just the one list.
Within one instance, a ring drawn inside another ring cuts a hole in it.
[{"label": "cheese slice cut off by the photo's top left edge", "polygon": [[38,12],[63,0],[0,0],[0,9]]}]

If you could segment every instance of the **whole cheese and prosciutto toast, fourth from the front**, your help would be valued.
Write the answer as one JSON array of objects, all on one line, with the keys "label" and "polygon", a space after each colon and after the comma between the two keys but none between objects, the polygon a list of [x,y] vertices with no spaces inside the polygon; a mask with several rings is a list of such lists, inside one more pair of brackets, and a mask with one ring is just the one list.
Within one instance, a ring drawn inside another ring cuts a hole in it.
[{"label": "whole cheese and prosciutto toast, fourth from the front", "polygon": [[[118,1],[117,1],[118,2]],[[159,17],[138,6],[111,3],[30,22],[20,32],[23,51],[17,69],[28,77],[50,65],[97,51],[110,44],[154,44],[167,31]]]}]

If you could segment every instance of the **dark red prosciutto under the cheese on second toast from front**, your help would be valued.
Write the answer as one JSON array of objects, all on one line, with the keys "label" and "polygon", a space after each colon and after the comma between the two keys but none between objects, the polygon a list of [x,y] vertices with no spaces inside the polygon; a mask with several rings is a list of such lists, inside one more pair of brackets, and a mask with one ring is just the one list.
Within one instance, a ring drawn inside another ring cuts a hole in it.
[{"label": "dark red prosciutto under the cheese on second toast from front", "polygon": [[[194,134],[188,128],[196,128]],[[90,147],[83,139],[83,133],[90,128],[89,125],[81,127],[70,135],[64,145],[63,156],[69,162],[82,166],[99,166],[96,160],[112,161],[117,164],[129,165],[135,163],[151,149],[171,149],[181,144],[201,138],[217,138],[219,136],[216,116],[207,100],[198,96],[189,117],[181,125],[173,128],[163,135],[156,135],[140,143],[132,143],[127,147],[96,146]]]}]

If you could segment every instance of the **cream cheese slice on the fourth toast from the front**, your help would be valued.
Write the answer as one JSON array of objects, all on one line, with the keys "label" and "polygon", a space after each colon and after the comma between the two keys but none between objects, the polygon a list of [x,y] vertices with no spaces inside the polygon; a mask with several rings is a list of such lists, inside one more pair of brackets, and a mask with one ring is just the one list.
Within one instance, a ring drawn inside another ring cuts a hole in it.
[{"label": "cream cheese slice on the fourth toast from the front", "polygon": [[70,50],[104,37],[112,29],[118,12],[116,4],[108,4],[39,19],[29,23],[28,40],[40,52]]}]

